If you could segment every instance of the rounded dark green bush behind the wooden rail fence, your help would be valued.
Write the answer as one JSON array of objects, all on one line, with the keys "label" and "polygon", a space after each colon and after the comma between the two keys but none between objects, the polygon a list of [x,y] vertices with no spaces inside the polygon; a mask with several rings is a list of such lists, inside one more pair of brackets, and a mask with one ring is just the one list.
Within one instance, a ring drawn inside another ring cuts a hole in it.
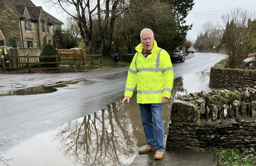
[{"label": "rounded dark green bush behind the wooden rail fence", "polygon": [[[53,56],[59,55],[58,51],[52,44],[47,43],[40,54],[40,56]],[[56,62],[56,57],[39,57],[40,62]],[[58,57],[60,62],[60,57]],[[43,67],[57,67],[57,64],[42,64]]]}]

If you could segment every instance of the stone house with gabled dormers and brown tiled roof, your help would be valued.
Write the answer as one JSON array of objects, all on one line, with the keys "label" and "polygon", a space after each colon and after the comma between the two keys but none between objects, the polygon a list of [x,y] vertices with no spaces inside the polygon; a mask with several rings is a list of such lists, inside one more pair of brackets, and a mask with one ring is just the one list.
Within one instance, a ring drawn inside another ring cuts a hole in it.
[{"label": "stone house with gabled dormers and brown tiled roof", "polygon": [[13,34],[17,47],[42,48],[52,43],[55,26],[63,24],[30,0],[0,0],[0,8],[0,46],[9,45]]}]

